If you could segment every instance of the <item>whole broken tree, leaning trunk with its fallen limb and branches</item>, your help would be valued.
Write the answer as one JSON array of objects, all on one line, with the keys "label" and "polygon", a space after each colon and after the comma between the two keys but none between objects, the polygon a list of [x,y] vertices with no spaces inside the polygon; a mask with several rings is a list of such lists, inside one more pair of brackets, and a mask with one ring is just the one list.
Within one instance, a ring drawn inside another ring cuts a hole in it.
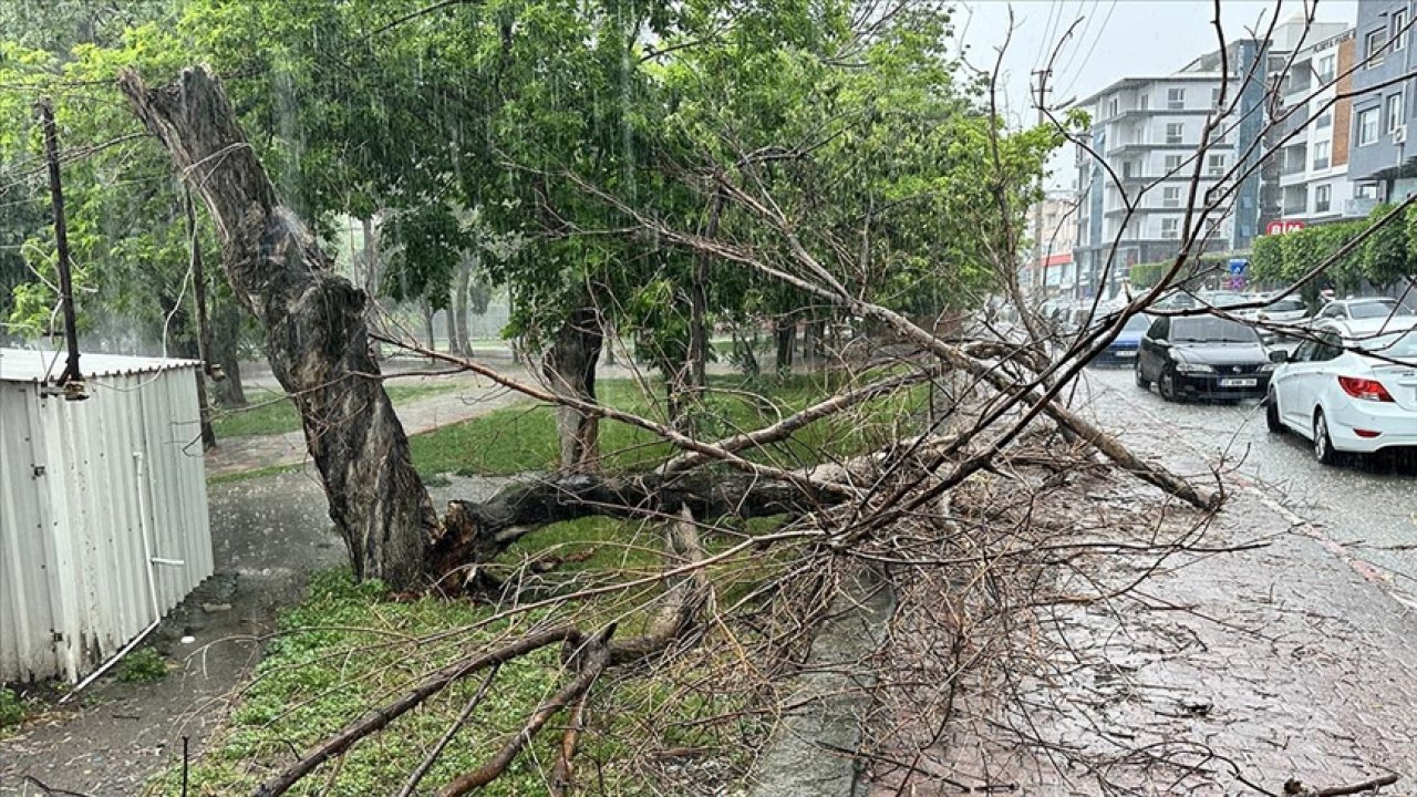
[{"label": "whole broken tree, leaning trunk with its fallen limb and branches", "polygon": [[[822,543],[809,547],[825,556],[850,553],[857,542],[869,539],[876,530],[907,518],[972,475],[992,468],[1006,447],[1040,414],[1076,433],[1127,472],[1196,506],[1214,505],[1210,496],[1185,479],[1139,459],[1061,404],[1057,384],[1041,387],[1050,364],[1036,352],[998,343],[954,345],[852,294],[816,262],[789,234],[785,220],[774,216],[767,206],[755,211],[762,213],[762,218],[772,223],[778,233],[788,233],[788,251],[798,267],[815,278],[775,268],[741,247],[677,233],[598,193],[639,221],[642,231],[659,234],[703,257],[755,268],[828,299],[849,313],[886,325],[915,346],[928,364],[904,374],[877,376],[774,424],[710,442],[673,425],[606,407],[587,390],[546,390],[468,357],[418,349],[425,356],[483,374],[557,407],[563,420],[574,421],[563,425],[585,428],[587,421],[612,418],[649,430],[677,450],[655,472],[570,472],[524,479],[485,502],[455,501],[439,519],[410,462],[407,438],[383,389],[378,366],[370,356],[366,296],[333,275],[332,260],[320,251],[302,220],[279,200],[244,139],[221,85],[205,69],[187,69],[177,84],[157,89],[149,89],[136,74],[128,72],[120,85],[211,210],[221,234],[228,279],[265,326],[272,369],[300,410],[310,455],[330,502],[330,516],[344,536],[357,576],[384,579],[398,590],[424,584],[445,589],[451,584],[456,589],[456,579],[449,576],[492,562],[526,533],[550,523],[608,516],[650,519],[663,526],[663,572],[639,581],[656,584],[660,590],[653,606],[648,607],[653,620],[643,634],[611,640],[614,627],[563,627],[550,635],[531,635],[495,651],[469,654],[461,664],[425,678],[387,706],[371,709],[351,722],[324,745],[272,776],[258,794],[283,793],[323,762],[388,726],[452,682],[497,667],[507,657],[526,655],[550,644],[565,645],[567,678],[563,686],[529,715],[523,730],[483,767],[446,784],[444,794],[476,788],[503,771],[554,715],[584,701],[606,668],[645,661],[687,638],[697,625],[701,607],[710,600],[706,569],[711,563],[774,539]],[[752,197],[730,183],[720,183],[716,190],[731,201],[752,207]],[[591,367],[594,359],[581,357],[578,363]],[[966,380],[993,394],[986,413],[971,418],[951,435],[931,428],[924,435],[897,438],[881,451],[849,462],[805,468],[785,468],[771,459],[748,457],[786,440],[808,424],[944,376]],[[1013,410],[1020,410],[1015,413],[1017,417],[1009,416]],[[989,437],[1005,417],[1015,417],[1013,425]],[[976,444],[981,437],[988,437],[986,442]],[[565,464],[594,468],[594,440],[580,435],[572,442],[577,445],[575,457]],[[714,469],[704,469],[708,465]],[[939,476],[937,471],[947,465],[948,472]],[[835,512],[833,519],[830,523],[823,519],[822,528],[744,540],[714,556],[706,556],[699,539],[700,525],[721,516],[801,518],[828,512]],[[839,530],[823,533],[833,523]],[[813,589],[828,584],[811,570],[808,577],[816,584]],[[606,591],[625,589],[626,584],[605,587]],[[820,607],[829,603],[812,601]],[[560,767],[565,773],[570,771],[568,759],[574,746],[574,736],[568,736]]]}]

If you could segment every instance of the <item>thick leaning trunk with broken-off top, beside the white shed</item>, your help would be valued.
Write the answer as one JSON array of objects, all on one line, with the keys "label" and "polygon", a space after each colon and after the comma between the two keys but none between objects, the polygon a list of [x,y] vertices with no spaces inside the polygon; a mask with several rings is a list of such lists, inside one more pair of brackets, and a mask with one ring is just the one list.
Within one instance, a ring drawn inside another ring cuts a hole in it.
[{"label": "thick leaning trunk with broken-off top, beside the white shed", "polygon": [[364,292],[334,275],[330,257],[276,196],[205,68],[156,89],[125,71],[119,87],[211,211],[237,299],[265,328],[271,370],[300,410],[356,576],[415,586],[438,519],[376,379]]}]

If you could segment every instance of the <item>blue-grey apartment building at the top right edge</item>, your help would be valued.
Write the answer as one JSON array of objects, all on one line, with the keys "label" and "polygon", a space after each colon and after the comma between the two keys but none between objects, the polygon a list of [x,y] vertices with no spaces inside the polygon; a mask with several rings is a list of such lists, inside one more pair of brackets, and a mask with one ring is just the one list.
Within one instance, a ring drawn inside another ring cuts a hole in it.
[{"label": "blue-grey apartment building at the top right edge", "polygon": [[[1417,190],[1417,149],[1407,135],[1414,116],[1414,7],[1410,0],[1359,0],[1355,27],[1353,101],[1349,176],[1356,199],[1401,200]],[[1417,129],[1411,129],[1417,132]]]}]

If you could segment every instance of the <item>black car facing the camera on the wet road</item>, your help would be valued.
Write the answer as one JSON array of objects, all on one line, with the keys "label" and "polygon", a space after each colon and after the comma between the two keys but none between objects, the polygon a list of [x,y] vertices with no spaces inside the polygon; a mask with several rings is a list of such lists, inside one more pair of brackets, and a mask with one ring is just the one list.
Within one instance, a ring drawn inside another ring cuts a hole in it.
[{"label": "black car facing the camera on the wet road", "polygon": [[1142,336],[1136,355],[1136,386],[1162,398],[1264,396],[1277,363],[1260,335],[1240,322],[1216,316],[1158,318]]}]

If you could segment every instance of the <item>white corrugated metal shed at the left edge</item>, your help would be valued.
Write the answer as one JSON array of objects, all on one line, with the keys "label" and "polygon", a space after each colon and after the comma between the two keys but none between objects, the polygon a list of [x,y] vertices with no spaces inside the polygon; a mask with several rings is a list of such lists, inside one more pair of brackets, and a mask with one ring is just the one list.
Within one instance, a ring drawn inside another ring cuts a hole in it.
[{"label": "white corrugated metal shed at the left edge", "polygon": [[[57,360],[58,357],[58,360]],[[78,681],[213,572],[197,369],[0,349],[0,682]]]}]

